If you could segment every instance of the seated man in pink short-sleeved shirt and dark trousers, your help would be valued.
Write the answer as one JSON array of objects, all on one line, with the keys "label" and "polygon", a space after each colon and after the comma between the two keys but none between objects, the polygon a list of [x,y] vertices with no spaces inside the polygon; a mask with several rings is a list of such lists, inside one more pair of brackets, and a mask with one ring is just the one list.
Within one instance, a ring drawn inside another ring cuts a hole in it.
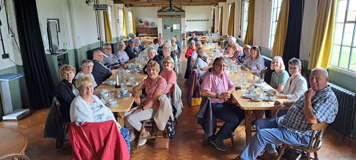
[{"label": "seated man in pink short-sleeved shirt and dark trousers", "polygon": [[[240,107],[228,103],[231,93],[235,91],[235,85],[232,83],[227,73],[225,73],[225,59],[218,57],[213,63],[213,71],[205,76],[201,84],[201,95],[208,96],[211,100],[211,110],[216,118],[225,121],[218,133],[211,139],[211,143],[221,151],[227,150],[223,139],[232,131],[233,136],[237,126],[245,119],[244,110]],[[230,138],[230,136],[229,136]]]}]

